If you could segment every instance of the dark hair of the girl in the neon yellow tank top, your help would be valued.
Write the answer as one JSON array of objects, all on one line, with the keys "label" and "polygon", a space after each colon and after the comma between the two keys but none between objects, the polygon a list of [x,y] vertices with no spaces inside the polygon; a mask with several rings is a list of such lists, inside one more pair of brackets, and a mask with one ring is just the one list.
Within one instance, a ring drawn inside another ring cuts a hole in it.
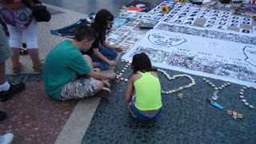
[{"label": "dark hair of the girl in the neon yellow tank top", "polygon": [[157,69],[152,68],[150,58],[145,53],[135,54],[131,66],[134,70],[134,74],[138,71],[142,73],[157,71]]}]

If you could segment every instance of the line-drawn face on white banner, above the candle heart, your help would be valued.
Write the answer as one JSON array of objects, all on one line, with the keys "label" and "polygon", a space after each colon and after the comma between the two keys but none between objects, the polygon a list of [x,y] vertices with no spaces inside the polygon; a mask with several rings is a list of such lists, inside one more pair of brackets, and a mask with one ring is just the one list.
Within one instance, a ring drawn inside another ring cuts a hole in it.
[{"label": "line-drawn face on white banner, above the candle heart", "polygon": [[185,38],[175,37],[168,34],[158,34],[153,33],[150,34],[148,40],[152,42],[154,47],[171,47],[171,46],[178,46],[184,42],[187,42]]}]

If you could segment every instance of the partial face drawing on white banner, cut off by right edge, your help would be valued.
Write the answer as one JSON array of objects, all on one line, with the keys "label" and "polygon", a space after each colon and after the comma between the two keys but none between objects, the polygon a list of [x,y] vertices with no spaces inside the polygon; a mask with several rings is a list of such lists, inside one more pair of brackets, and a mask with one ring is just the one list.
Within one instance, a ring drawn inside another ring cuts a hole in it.
[{"label": "partial face drawing on white banner, cut off by right edge", "polygon": [[246,46],[243,52],[246,55],[245,61],[256,67],[256,47]]}]

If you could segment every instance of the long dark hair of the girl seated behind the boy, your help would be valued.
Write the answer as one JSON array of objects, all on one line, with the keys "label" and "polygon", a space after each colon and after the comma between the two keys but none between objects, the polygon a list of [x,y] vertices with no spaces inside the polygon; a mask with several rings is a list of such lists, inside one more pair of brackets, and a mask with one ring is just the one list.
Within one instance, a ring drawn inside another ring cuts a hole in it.
[{"label": "long dark hair of the girl seated behind the boy", "polygon": [[106,30],[108,29],[107,21],[112,22],[113,20],[114,15],[111,14],[109,10],[102,9],[96,14],[91,26],[97,31],[98,37],[101,41],[105,40]]}]

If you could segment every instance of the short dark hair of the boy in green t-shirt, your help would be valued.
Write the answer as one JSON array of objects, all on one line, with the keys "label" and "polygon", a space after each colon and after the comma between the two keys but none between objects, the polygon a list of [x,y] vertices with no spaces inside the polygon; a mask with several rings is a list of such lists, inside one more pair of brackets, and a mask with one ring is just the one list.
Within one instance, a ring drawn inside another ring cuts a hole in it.
[{"label": "short dark hair of the boy in green t-shirt", "polygon": [[81,42],[84,39],[88,39],[88,41],[91,41],[97,37],[97,32],[88,25],[78,26],[77,30],[74,33],[74,39],[78,42]]}]

